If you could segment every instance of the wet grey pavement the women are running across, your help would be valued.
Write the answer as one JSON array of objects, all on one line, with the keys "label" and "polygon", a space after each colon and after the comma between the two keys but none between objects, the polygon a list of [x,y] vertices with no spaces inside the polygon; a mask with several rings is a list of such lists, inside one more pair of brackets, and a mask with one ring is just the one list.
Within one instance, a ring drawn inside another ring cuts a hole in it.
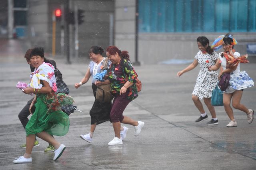
[{"label": "wet grey pavement the women are running across", "polygon": [[[18,81],[28,81],[30,69],[23,58],[26,44],[1,43],[6,46],[2,45],[0,52],[0,169],[256,169],[256,120],[248,124],[245,113],[234,110],[238,127],[226,128],[229,119],[224,107],[215,107],[219,125],[195,123],[200,115],[191,93],[198,68],[176,77],[187,64],[135,66],[142,91],[124,115],[145,122],[139,136],[134,136],[134,127],[125,125],[129,130],[123,144],[108,146],[114,130],[110,122],[105,122],[96,127],[92,144],[82,140],[79,135],[90,130],[89,111],[94,98],[89,82],[79,89],[74,88],[74,83],[84,76],[89,60],[72,59],[72,64],[67,65],[60,56],[54,60],[70,87],[70,95],[84,113],[72,113],[68,134],[56,136],[66,145],[57,161],[52,160],[54,153],[44,153],[48,144],[39,138],[40,146],[32,151],[33,162],[13,164],[12,160],[25,151],[19,147],[26,134],[18,113],[31,98],[15,86]],[[254,80],[255,68],[256,63],[241,64],[241,70]],[[255,110],[255,96],[255,86],[246,89],[241,103]],[[209,121],[210,113],[204,108]]]}]

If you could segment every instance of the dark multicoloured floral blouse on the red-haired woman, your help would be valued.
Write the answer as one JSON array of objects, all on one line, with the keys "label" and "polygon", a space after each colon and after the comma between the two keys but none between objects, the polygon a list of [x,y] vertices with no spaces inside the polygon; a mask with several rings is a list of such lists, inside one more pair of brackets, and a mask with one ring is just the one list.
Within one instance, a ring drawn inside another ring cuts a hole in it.
[{"label": "dark multicoloured floral blouse on the red-haired woman", "polygon": [[110,81],[110,92],[113,95],[119,94],[121,87],[126,83],[126,81],[129,81],[130,83],[133,83],[133,85],[127,89],[127,99],[131,101],[134,100],[136,97],[138,97],[136,77],[137,73],[129,60],[121,59],[118,65],[112,64],[108,74],[108,79]]}]

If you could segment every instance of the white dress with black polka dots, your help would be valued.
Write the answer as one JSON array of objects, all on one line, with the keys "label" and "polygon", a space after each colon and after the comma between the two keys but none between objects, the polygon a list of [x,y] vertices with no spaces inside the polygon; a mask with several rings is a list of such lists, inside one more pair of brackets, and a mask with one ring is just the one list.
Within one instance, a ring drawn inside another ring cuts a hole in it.
[{"label": "white dress with black polka dots", "polygon": [[215,51],[212,55],[198,51],[195,59],[200,65],[200,71],[192,95],[199,97],[199,99],[210,98],[212,97],[212,90],[215,89],[218,82],[218,73],[217,71],[208,71],[208,66],[215,65],[218,54]]}]

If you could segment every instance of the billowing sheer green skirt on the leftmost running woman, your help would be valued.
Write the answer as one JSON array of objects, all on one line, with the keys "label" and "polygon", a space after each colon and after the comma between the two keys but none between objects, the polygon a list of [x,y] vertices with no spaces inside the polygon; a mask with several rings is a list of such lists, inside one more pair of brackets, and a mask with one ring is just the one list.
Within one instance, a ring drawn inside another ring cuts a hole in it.
[{"label": "billowing sheer green skirt on the leftmost running woman", "polygon": [[63,111],[52,111],[49,114],[49,108],[44,102],[45,95],[40,95],[36,99],[36,110],[26,125],[26,134],[37,134],[42,131],[48,134],[64,136],[68,133],[70,125],[68,115]]}]

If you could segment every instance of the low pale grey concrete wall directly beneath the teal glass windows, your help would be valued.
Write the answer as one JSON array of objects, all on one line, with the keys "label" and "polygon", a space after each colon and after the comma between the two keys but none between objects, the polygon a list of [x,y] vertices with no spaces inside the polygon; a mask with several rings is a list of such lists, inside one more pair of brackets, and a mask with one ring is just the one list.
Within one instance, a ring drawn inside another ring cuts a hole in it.
[{"label": "low pale grey concrete wall directly beneath the teal glass windows", "polygon": [[[196,43],[198,36],[206,36],[210,44],[212,44],[215,38],[225,34],[226,33],[140,33],[138,61],[142,64],[153,64],[170,59],[194,59],[194,56],[199,51]],[[234,33],[234,38],[238,41],[238,44],[234,47],[241,55],[247,53],[246,44],[256,43],[256,33]],[[255,57],[255,55],[250,56]]]}]

